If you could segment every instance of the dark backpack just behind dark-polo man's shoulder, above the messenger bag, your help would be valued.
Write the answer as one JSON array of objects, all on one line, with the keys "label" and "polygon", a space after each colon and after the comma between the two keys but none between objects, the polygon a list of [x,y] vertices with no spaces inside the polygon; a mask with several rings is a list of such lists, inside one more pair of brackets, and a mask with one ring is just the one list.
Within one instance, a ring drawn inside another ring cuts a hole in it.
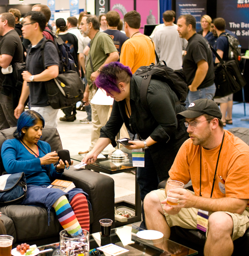
[{"label": "dark backpack just behind dark-polo man's shoulder, above the messenger bag", "polygon": [[62,74],[68,70],[77,71],[77,66],[74,62],[73,56],[70,52],[70,48],[68,47],[68,45],[62,40],[61,37],[56,36],[51,30],[45,29],[44,31],[50,33],[51,36],[54,37],[54,43],[58,49],[59,56],[60,56],[59,73]]}]

